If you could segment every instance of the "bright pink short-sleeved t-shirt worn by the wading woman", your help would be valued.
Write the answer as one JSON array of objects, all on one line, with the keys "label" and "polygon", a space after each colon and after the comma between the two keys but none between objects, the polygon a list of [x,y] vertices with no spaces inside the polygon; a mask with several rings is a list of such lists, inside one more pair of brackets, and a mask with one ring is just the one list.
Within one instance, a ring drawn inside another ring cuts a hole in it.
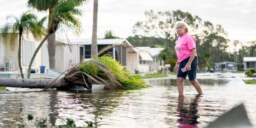
[{"label": "bright pink short-sleeved t-shirt worn by the wading woman", "polygon": [[[178,38],[175,45],[175,51],[178,57],[178,61],[186,59],[191,55],[191,49],[196,48],[196,41],[190,34],[185,34]],[[197,54],[196,54],[197,56]]]}]

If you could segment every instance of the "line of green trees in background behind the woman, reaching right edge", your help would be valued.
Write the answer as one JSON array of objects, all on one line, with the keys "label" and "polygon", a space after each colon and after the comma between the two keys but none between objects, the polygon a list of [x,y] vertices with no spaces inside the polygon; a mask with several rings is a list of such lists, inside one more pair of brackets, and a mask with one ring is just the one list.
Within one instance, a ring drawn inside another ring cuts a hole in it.
[{"label": "line of green trees in background behind the woman, reaching right edge", "polygon": [[[181,10],[157,13],[150,10],[144,14],[147,20],[137,21],[132,30],[135,36],[129,36],[127,40],[135,47],[164,48],[158,57],[172,67],[175,67],[177,61],[174,51],[178,39],[175,31],[176,21],[184,21],[191,28],[190,34],[196,40],[198,67],[201,71],[204,71],[204,68],[214,68],[215,62],[223,61],[237,62],[238,70],[244,70],[243,58],[256,56],[256,41],[243,43],[236,40],[230,44],[228,33],[220,24],[214,26],[210,21],[203,21],[200,17]],[[240,45],[240,49],[228,52],[229,45]]]}]

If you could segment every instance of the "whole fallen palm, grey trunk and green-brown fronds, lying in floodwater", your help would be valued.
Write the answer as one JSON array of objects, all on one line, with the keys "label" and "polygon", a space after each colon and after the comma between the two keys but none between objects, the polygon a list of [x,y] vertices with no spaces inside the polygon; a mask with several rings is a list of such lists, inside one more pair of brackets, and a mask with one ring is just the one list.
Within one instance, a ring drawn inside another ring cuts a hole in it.
[{"label": "whole fallen palm, grey trunk and green-brown fronds, lying in floodwater", "polygon": [[[104,51],[125,44],[111,45],[103,48],[98,55]],[[97,56],[98,56],[97,55]],[[83,86],[92,88],[92,84],[104,84],[104,89],[126,89],[148,87],[148,84],[140,75],[132,74],[126,70],[116,59],[103,55],[93,57],[91,60],[78,63],[71,68],[65,77],[57,79],[14,79],[0,78],[0,86],[26,87],[26,88],[57,88],[61,90],[72,86]]]}]

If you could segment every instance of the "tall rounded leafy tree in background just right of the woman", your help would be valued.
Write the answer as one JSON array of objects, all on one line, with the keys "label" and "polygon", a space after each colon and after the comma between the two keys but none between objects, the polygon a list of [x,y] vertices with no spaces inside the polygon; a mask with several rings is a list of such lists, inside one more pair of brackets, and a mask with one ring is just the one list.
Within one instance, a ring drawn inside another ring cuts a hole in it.
[{"label": "tall rounded leafy tree in background just right of the woman", "polygon": [[232,60],[226,52],[229,42],[227,32],[220,24],[214,26],[209,21],[205,21],[199,29],[201,31],[194,35],[197,42],[199,69],[213,68],[215,62],[228,61],[227,58]]}]

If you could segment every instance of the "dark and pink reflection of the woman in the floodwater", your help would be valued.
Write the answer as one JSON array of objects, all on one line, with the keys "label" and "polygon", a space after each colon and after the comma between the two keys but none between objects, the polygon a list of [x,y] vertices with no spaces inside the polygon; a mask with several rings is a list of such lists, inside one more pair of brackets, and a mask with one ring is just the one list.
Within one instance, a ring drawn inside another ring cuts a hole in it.
[{"label": "dark and pink reflection of the woman in the floodwater", "polygon": [[184,96],[178,97],[178,108],[179,112],[178,119],[179,125],[178,128],[198,128],[196,125],[199,123],[197,119],[198,114],[198,101],[200,95],[196,95],[194,99],[192,99],[191,103],[184,103]]}]

